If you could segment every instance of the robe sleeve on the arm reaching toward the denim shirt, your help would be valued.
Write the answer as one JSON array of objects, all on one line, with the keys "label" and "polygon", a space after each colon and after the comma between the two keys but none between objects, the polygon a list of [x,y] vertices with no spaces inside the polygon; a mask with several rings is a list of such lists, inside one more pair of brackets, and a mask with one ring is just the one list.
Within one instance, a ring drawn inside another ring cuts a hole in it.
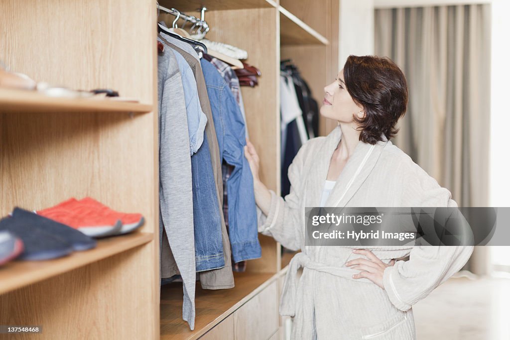
[{"label": "robe sleeve on the arm reaching toward the denim shirt", "polygon": [[288,176],[290,192],[285,199],[278,196],[273,190],[268,215],[257,206],[258,230],[264,235],[271,236],[285,248],[299,250],[301,247],[301,232],[303,215],[301,207],[302,170],[307,144],[301,146],[294,160],[289,166]]}]

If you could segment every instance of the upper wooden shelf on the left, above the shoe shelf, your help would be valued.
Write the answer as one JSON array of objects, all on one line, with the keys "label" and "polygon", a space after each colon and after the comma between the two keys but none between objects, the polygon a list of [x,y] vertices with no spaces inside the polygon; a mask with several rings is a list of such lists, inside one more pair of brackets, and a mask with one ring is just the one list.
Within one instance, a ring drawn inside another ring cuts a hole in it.
[{"label": "upper wooden shelf on the left, above the shoe shelf", "polygon": [[0,89],[0,112],[133,112],[147,113],[152,105],[109,99],[48,97],[35,91]]}]

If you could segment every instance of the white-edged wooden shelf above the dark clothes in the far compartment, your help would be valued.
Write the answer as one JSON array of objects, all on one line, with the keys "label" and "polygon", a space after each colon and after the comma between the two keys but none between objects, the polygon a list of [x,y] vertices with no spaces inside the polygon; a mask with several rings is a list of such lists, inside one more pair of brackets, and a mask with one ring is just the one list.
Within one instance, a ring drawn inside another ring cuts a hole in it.
[{"label": "white-edged wooden shelf above the dark clothes in the far compartment", "polygon": [[328,45],[329,41],[282,6],[280,12],[280,45]]}]

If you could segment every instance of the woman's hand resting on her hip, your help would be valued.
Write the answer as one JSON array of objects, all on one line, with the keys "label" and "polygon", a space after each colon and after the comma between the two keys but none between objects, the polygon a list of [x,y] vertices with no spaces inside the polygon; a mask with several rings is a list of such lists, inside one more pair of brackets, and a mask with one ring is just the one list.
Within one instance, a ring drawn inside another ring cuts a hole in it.
[{"label": "woman's hand resting on her hip", "polygon": [[361,270],[361,272],[352,275],[352,277],[354,279],[359,279],[362,277],[367,278],[384,289],[384,285],[382,284],[382,275],[384,274],[384,270],[386,268],[395,265],[395,259],[393,258],[387,265],[377,256],[375,256],[374,253],[372,253],[370,250],[354,249],[352,252],[355,254],[365,255],[367,257],[355,258],[345,263],[346,266],[352,269]]}]

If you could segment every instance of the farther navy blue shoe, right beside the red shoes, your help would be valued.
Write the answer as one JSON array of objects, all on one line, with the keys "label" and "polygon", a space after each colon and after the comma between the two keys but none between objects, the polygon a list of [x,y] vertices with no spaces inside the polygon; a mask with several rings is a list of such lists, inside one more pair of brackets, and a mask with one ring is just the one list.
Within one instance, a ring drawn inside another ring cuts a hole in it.
[{"label": "farther navy blue shoe, right beside the red shoes", "polygon": [[40,216],[18,207],[14,208],[12,217],[18,221],[40,228],[44,232],[52,236],[58,236],[71,244],[73,250],[89,250],[96,247],[96,242],[83,232],[73,229],[70,226],[50,220],[44,216]]}]

